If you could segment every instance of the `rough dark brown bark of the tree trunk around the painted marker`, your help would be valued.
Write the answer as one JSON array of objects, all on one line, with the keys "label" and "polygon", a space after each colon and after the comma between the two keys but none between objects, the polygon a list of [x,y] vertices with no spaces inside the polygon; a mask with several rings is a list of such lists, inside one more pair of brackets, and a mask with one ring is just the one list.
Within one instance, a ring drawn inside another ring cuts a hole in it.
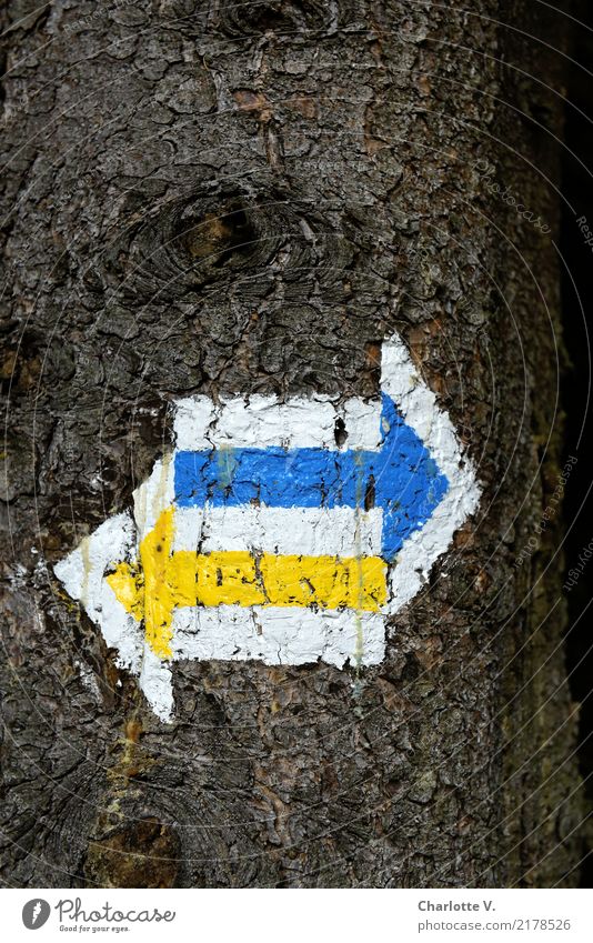
[{"label": "rough dark brown bark of the tree trunk around the painted marker", "polygon": [[[560,104],[525,73],[556,60],[530,4],[462,6],[3,8],[7,883],[576,883],[552,529],[513,565],[559,472],[557,261],[483,173],[553,234]],[[175,397],[373,395],[393,331],[479,514],[359,684],[187,662],[160,724],[52,564],[130,505]]]}]

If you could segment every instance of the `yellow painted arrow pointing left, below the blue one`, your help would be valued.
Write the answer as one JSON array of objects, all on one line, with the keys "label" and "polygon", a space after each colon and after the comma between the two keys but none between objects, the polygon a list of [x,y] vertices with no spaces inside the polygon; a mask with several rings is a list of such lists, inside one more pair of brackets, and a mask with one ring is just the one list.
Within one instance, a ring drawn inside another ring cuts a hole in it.
[{"label": "yellow painted arrow pointing left, below the blue one", "polygon": [[140,544],[140,565],[120,563],[107,581],[127,612],[144,619],[153,652],[171,658],[175,609],[278,605],[379,612],[386,602],[386,564],[379,556],[296,556],[248,551],[172,552],[174,511],[160,515]]}]

